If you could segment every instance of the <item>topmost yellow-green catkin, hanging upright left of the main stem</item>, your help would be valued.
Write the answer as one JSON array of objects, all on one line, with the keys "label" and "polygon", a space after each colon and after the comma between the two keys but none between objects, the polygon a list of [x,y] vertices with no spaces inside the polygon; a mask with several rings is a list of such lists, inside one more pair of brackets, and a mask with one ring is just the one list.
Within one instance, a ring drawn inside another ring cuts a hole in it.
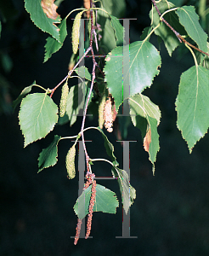
[{"label": "topmost yellow-green catkin, hanging upright left of the main stem", "polygon": [[78,13],[75,17],[72,26],[72,51],[76,55],[78,44],[79,44],[79,36],[80,36],[80,22],[82,18],[82,12]]}]

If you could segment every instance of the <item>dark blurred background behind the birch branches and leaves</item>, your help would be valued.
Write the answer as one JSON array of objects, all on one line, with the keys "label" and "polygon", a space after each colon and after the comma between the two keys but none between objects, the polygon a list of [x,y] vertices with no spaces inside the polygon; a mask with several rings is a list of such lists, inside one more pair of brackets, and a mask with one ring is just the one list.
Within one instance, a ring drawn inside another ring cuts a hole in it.
[{"label": "dark blurred background behind the birch branches and leaves", "polygon": [[[139,40],[144,27],[150,25],[150,2],[127,1],[126,17],[138,18],[131,21],[131,41]],[[198,1],[175,2],[195,4]],[[81,5],[82,1],[65,0],[59,14],[65,17]],[[194,65],[187,52],[181,55],[184,46],[170,58],[161,44],[161,73],[151,89],[144,91],[161,109],[158,128],[161,150],[157,154],[155,176],[140,132],[133,126],[127,130],[127,140],[138,141],[130,143],[131,183],[137,190],[131,207],[130,234],[138,238],[116,239],[122,235],[120,192],[116,181],[102,180],[98,183],[116,192],[120,207],[116,215],[94,212],[93,238],[80,239],[74,246],[71,236],[75,236],[76,229],[73,206],[78,175],[68,180],[65,170],[65,154],[71,143],[60,142],[57,165],[39,174],[37,158],[54,134],[75,135],[80,131],[82,120],[79,118],[71,129],[69,125],[56,126],[46,139],[23,148],[18,109],[13,113],[11,108],[20,91],[35,79],[37,84],[53,88],[65,77],[71,58],[72,21],[68,21],[70,36],[64,47],[43,64],[47,35],[33,25],[23,1],[0,3],[0,10],[3,26],[0,39],[0,255],[209,255],[209,137],[206,134],[189,154],[176,126],[174,103],[179,77]],[[154,35],[151,42],[160,49]],[[86,127],[97,124],[97,119],[88,119]],[[116,143],[114,134],[108,136],[122,167],[121,144]],[[106,157],[98,132],[89,131],[85,138],[92,141],[87,147],[93,158]],[[93,168],[98,176],[110,176],[108,164],[95,164]]]}]

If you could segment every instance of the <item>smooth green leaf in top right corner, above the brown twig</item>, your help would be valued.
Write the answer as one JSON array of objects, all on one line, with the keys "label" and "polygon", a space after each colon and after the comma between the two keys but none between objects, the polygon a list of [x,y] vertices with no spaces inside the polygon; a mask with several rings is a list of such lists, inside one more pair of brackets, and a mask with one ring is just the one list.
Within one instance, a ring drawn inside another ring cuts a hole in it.
[{"label": "smooth green leaf in top right corner, above the brown twig", "polygon": [[185,27],[186,32],[188,32],[189,37],[196,42],[199,49],[206,52],[207,35],[201,28],[199,16],[195,13],[194,6],[183,6],[182,8],[178,8],[176,13],[180,23]]}]

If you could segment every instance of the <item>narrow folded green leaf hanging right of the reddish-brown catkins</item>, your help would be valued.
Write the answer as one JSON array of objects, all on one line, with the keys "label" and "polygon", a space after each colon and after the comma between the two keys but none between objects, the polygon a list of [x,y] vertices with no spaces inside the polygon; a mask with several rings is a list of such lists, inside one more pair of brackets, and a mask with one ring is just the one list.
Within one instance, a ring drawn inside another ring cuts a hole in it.
[{"label": "narrow folded green leaf hanging right of the reddish-brown catkins", "polygon": [[119,188],[121,191],[121,198],[123,208],[127,214],[129,207],[133,204],[133,200],[136,198],[136,190],[129,183],[127,172],[119,169],[118,167],[112,168],[114,177],[117,177]]}]

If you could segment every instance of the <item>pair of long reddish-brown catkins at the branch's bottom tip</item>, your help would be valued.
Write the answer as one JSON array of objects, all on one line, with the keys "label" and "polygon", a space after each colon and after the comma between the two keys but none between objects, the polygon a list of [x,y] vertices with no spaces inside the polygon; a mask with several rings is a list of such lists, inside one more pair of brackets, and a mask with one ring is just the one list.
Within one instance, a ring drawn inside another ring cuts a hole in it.
[{"label": "pair of long reddish-brown catkins at the branch's bottom tip", "polygon": [[[96,197],[96,181],[93,180],[93,177],[95,177],[95,175],[93,173],[88,172],[86,177],[88,180],[85,183],[83,190],[88,189],[89,185],[92,184],[92,195],[91,195],[91,199],[90,199],[89,207],[88,207],[89,213],[88,213],[88,222],[87,222],[87,233],[85,236],[85,239],[88,239],[88,236],[90,235],[91,228],[92,228],[93,206],[94,206],[95,197]],[[74,239],[75,245],[77,244],[77,241],[80,237],[81,228],[82,228],[82,219],[78,218],[77,225],[76,225],[76,236]]]}]

